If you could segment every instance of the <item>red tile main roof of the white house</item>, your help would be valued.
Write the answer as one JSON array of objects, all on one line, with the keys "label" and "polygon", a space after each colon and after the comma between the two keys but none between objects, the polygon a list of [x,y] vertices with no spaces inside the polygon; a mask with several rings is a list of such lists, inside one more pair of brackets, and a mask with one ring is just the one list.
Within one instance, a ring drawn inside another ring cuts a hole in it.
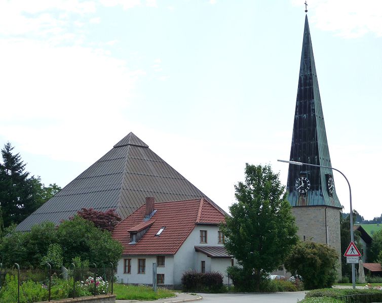
[{"label": "red tile main roof of the white house", "polygon": [[[147,222],[143,221],[143,205],[116,226],[112,237],[122,243],[123,254],[175,254],[196,224],[218,225],[225,222],[224,213],[204,198],[156,202],[155,209],[157,212]],[[129,244],[129,231],[143,230],[150,224],[137,243]],[[164,231],[160,236],[156,236],[162,227],[165,227]]]}]

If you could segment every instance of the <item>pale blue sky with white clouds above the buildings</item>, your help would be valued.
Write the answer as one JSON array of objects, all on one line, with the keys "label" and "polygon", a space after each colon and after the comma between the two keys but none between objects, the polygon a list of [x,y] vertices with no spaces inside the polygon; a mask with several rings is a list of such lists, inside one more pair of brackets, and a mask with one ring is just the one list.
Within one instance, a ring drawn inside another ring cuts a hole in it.
[{"label": "pale blue sky with white clouds above the buildings", "polygon": [[[302,0],[0,0],[0,146],[64,187],[133,132],[228,211],[245,163],[287,181]],[[311,0],[333,167],[379,217],[382,1]],[[349,212],[349,188],[334,172]]]}]

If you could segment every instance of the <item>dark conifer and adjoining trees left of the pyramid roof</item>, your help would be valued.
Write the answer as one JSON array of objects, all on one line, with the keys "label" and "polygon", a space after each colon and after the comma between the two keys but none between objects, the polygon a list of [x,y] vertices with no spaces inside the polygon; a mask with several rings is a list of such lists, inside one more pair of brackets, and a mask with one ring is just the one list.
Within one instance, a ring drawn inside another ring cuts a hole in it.
[{"label": "dark conifer and adjoining trees left of the pyramid roof", "polygon": [[29,176],[19,153],[6,143],[0,160],[0,230],[19,224],[34,210],[49,200],[61,188],[45,187],[40,177]]}]

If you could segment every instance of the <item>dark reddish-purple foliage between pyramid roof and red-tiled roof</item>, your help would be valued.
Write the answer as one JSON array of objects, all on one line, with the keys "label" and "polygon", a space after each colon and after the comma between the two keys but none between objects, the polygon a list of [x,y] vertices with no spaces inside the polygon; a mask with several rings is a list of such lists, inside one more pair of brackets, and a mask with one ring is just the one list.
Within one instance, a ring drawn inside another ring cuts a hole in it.
[{"label": "dark reddish-purple foliage between pyramid roof and red-tiled roof", "polygon": [[115,209],[99,211],[93,208],[82,208],[77,212],[79,217],[94,223],[95,227],[102,230],[113,231],[114,227],[122,220]]}]

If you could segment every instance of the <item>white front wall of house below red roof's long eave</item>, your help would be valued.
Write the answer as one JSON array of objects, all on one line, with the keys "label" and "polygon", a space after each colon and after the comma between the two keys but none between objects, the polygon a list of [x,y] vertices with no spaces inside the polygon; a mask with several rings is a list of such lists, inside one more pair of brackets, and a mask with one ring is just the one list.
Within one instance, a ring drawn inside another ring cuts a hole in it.
[{"label": "white front wall of house below red roof's long eave", "polygon": [[[131,274],[124,273],[124,259],[131,259]],[[138,274],[138,259],[146,259],[146,271],[144,274]],[[157,262],[157,256],[122,256],[118,262],[117,278],[123,283],[132,284],[152,284],[152,263]],[[165,285],[174,285],[173,280],[174,257],[165,256],[165,266],[157,266],[157,274],[165,275]]]}]

